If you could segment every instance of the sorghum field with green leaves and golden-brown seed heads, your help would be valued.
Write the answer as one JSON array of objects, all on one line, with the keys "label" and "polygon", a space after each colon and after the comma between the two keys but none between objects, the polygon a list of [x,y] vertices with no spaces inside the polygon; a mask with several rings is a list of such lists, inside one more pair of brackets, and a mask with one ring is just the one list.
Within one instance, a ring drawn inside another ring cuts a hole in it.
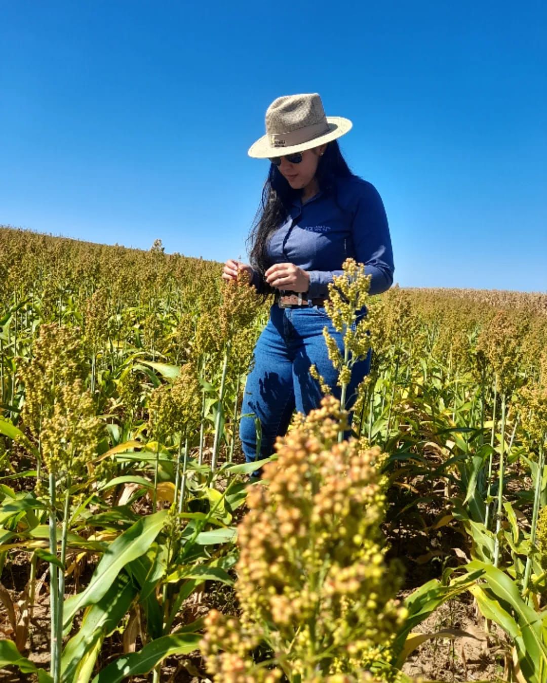
[{"label": "sorghum field with green leaves and golden-brown seed heads", "polygon": [[0,680],[547,682],[547,294],[348,262],[342,400],[248,484],[271,302],[220,273],[0,229]]}]

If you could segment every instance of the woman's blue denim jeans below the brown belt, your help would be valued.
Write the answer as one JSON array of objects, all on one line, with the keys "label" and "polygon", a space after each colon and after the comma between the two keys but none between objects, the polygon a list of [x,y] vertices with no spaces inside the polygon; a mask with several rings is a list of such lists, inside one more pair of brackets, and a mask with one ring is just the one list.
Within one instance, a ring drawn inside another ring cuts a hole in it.
[{"label": "woman's blue denim jeans below the brown belt", "polygon": [[[323,337],[325,326],[343,352],[342,335],[336,332],[324,308],[282,309],[277,304],[271,307],[268,323],[254,348],[254,367],[243,393],[242,415],[254,414],[242,417],[239,425],[247,462],[256,460],[255,417],[260,419],[262,428],[260,460],[273,453],[276,436],[285,434],[295,408],[307,415],[319,407],[323,395],[319,382],[309,373],[310,365],[315,363],[333,395],[340,398],[341,388],[336,386],[338,371],[328,357]],[[353,365],[346,393],[349,410],[357,398],[357,385],[370,370],[370,359],[369,352],[366,359]]]}]

